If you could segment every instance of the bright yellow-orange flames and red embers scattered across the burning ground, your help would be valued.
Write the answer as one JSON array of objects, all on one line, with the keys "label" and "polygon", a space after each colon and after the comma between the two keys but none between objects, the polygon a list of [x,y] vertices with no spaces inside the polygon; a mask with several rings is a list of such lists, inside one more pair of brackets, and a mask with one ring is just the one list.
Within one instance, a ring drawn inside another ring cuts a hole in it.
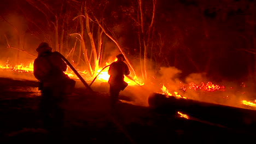
[{"label": "bright yellow-orange flames and red embers scattered across the burning ground", "polygon": [[[115,59],[115,61],[117,61],[117,59]],[[6,70],[6,71],[18,71],[20,73],[33,73],[33,62],[29,63],[28,65],[25,65],[24,63],[21,63],[19,65],[15,65],[14,67],[11,66],[8,62],[9,61],[7,61],[4,65],[0,65],[0,68],[3,69],[3,70]],[[106,63],[106,65],[109,65],[109,63]],[[96,65],[96,68],[95,68],[96,73],[94,73],[94,76],[92,76],[91,78],[93,79],[93,77],[98,75],[97,76],[98,81],[107,82],[108,79],[109,79],[109,75],[108,75],[109,67],[106,67],[103,70],[102,69],[103,68],[99,68],[98,65]],[[78,73],[80,75],[84,76],[85,74],[88,73],[88,71],[79,71],[78,70]],[[65,71],[65,74],[67,74],[72,79],[78,79],[78,77],[73,73],[73,71],[71,69],[69,69],[69,67],[67,68],[67,71]],[[132,86],[132,85],[144,85],[144,83],[139,81],[136,76],[134,76],[132,79],[134,81],[131,80],[129,77],[126,77],[126,76],[124,77],[124,81],[129,83],[130,86]],[[201,85],[196,85],[194,82],[190,82],[187,85],[183,85],[181,83],[180,87],[183,91],[187,91],[187,89],[194,89],[195,91],[201,89],[202,91],[208,91],[208,92],[225,91],[225,86],[214,85],[212,82],[207,82],[206,84],[201,82]],[[245,83],[242,83],[241,87],[246,87]],[[161,90],[162,90],[162,94],[165,94],[166,97],[177,97],[177,98],[187,99],[186,97],[183,97],[181,94],[179,94],[176,91],[169,92],[169,90],[165,87],[165,85],[162,86]],[[247,101],[247,100],[242,100],[241,104],[256,107],[256,100],[254,100],[253,102],[252,101]],[[182,117],[187,116],[187,115],[183,115],[181,112],[178,112],[178,113]]]}]

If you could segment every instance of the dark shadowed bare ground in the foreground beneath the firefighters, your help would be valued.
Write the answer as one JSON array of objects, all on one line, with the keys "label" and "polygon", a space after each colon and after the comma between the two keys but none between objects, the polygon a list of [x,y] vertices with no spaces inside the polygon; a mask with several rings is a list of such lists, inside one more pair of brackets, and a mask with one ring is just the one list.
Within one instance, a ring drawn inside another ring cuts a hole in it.
[{"label": "dark shadowed bare ground in the foreground beneath the firefighters", "polygon": [[133,105],[128,97],[120,97],[123,103],[110,111],[108,92],[94,89],[96,93],[92,94],[85,87],[76,87],[63,104],[65,125],[56,136],[40,126],[37,86],[37,81],[0,78],[0,140],[56,138],[88,143],[217,143],[253,140],[256,136],[252,130],[223,127],[195,118],[185,119],[178,113]]}]

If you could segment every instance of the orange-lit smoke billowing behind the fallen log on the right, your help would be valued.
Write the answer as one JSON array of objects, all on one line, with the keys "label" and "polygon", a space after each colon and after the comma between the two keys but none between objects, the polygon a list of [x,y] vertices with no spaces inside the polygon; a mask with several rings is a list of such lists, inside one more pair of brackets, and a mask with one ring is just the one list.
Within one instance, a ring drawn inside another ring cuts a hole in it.
[{"label": "orange-lit smoke billowing behind the fallen log on the right", "polygon": [[[175,97],[174,92],[177,92],[182,97],[188,99],[254,110],[254,107],[242,104],[242,100],[254,102],[256,99],[254,96],[255,85],[253,82],[245,81],[238,84],[237,81],[215,81],[207,77],[206,73],[193,73],[185,77],[184,81],[182,81],[179,77],[181,73],[182,71],[175,67],[161,67],[157,75],[153,75],[154,73],[149,71],[149,79],[144,86],[126,88],[122,94],[132,97],[137,104],[146,106],[148,105],[147,100],[149,95],[153,93],[162,94],[161,88],[164,85],[168,89],[168,92],[174,95],[173,97]],[[218,80],[218,77],[216,79]],[[200,87],[207,85],[208,82],[222,88],[216,91],[206,91],[205,89],[199,88],[189,89],[191,83]]]}]

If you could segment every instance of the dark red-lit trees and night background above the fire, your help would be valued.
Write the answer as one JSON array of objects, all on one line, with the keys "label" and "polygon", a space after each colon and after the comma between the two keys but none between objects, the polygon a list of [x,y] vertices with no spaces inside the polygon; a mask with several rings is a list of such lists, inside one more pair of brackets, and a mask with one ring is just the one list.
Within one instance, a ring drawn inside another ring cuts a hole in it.
[{"label": "dark red-lit trees and night background above the fire", "polygon": [[[31,47],[36,45],[31,39],[47,41],[91,75],[121,52],[133,75],[144,80],[158,74],[160,67],[176,67],[182,77],[206,73],[219,80],[255,79],[253,1],[13,2],[5,3],[9,9],[3,10],[1,22],[18,29],[19,43],[11,43],[11,36],[3,32],[5,47],[33,54]],[[19,7],[14,10],[15,3]],[[11,11],[24,17],[25,32],[11,26]],[[25,39],[22,32],[33,37]]]}]

